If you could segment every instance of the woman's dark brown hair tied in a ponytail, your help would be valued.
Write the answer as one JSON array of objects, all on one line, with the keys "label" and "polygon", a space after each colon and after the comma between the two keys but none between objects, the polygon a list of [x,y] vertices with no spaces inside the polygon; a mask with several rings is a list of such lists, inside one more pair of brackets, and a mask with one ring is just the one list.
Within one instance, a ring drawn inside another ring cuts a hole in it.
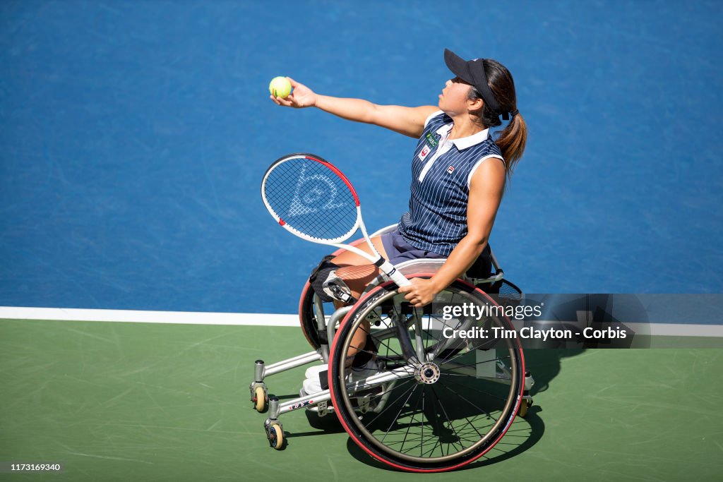
[{"label": "woman's dark brown hair tied in a ponytail", "polygon": [[[485,127],[496,127],[502,125],[500,114],[502,112],[515,111],[517,109],[517,95],[515,94],[515,81],[510,71],[500,62],[492,59],[484,59],[484,74],[487,76],[487,85],[495,95],[497,103],[500,104],[500,111],[492,111],[484,103],[479,121]],[[467,95],[469,100],[481,99],[482,95],[474,87],[469,88]],[[517,161],[522,157],[527,142],[527,126],[520,113],[515,113],[505,129],[502,129],[495,144],[500,147],[502,157],[505,158],[505,172],[508,179],[512,176]]]}]

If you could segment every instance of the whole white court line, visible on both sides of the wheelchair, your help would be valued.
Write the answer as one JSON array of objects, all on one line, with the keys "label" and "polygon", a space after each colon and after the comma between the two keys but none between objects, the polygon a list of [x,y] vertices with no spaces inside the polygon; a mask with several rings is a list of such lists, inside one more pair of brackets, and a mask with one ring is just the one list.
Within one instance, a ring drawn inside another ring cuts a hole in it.
[{"label": "whole white court line, visible on both sides of the wheelchair", "polygon": [[[296,314],[207,313],[203,311],[139,311],[124,309],[25,308],[0,306],[0,319],[47,319],[69,322],[130,322],[234,324],[258,327],[298,327]],[[720,324],[625,323],[637,332],[656,336],[723,337]]]}]

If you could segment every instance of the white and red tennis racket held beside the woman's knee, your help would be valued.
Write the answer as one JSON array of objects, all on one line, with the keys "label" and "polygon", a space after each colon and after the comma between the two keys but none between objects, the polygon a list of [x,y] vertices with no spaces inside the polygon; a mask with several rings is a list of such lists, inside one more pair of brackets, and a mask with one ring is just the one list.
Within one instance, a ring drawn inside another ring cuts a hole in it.
[{"label": "white and red tennis racket held beside the woman's knee", "polygon": [[[268,212],[286,231],[307,241],[359,254],[398,286],[411,284],[372,244],[354,186],[328,161],[313,154],[283,156],[266,170],[261,197]],[[359,228],[373,255],[341,244]]]}]

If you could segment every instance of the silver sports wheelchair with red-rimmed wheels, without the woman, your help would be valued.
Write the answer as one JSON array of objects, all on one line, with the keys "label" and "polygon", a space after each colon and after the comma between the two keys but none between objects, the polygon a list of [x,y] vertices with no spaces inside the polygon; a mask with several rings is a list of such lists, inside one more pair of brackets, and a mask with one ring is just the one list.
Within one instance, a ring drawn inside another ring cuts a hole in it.
[{"label": "silver sports wheelchair with red-rimmed wheels, without the woman", "polygon": [[[269,412],[264,428],[270,446],[285,444],[279,417],[304,408],[318,417],[335,413],[361,449],[401,470],[453,470],[482,457],[516,415],[526,415],[534,384],[518,338],[505,336],[515,327],[500,315],[503,310],[489,309],[519,304],[522,293],[504,279],[491,251],[490,257],[494,274],[476,278],[468,272],[422,309],[383,274],[354,305],[338,309],[307,282],[299,321],[313,350],[277,363],[255,361],[249,385],[254,408]],[[414,259],[396,268],[409,278],[431,277],[443,262]],[[357,330],[366,332],[363,346],[353,344]],[[356,358],[366,363],[359,366]],[[311,375],[307,370],[307,377],[319,376],[315,392],[302,388],[283,403],[268,395],[269,376],[318,361],[326,365]]]}]

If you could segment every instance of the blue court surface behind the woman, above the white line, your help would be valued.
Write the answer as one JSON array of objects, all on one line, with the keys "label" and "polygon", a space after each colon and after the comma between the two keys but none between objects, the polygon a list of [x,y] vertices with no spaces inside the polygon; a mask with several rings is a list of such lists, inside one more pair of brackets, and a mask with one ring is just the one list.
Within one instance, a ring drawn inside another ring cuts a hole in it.
[{"label": "blue court surface behind the woman, above the white line", "polygon": [[492,246],[530,293],[721,293],[719,2],[4,1],[0,305],[296,310],[327,249],[275,225],[268,165],[315,152],[370,229],[414,139],[279,108],[268,82],[415,106],[492,57],[529,127]]}]

